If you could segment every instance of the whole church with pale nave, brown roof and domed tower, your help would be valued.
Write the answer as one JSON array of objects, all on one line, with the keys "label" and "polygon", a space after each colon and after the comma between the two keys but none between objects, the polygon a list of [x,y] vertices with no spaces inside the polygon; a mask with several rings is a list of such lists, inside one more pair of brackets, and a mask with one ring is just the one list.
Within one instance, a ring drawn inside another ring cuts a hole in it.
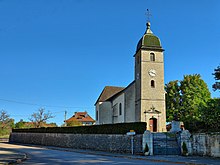
[{"label": "whole church with pale nave, brown roof and domed tower", "polygon": [[147,22],[134,55],[134,81],[106,86],[98,97],[96,124],[146,122],[151,132],[166,132],[164,49]]}]

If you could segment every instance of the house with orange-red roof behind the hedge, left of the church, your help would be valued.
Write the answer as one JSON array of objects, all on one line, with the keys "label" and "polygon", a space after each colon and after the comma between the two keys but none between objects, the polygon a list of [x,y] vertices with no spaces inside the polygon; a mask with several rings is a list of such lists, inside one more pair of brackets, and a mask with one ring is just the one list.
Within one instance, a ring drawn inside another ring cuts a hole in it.
[{"label": "house with orange-red roof behind the hedge, left of the church", "polygon": [[93,125],[95,120],[85,112],[75,112],[74,115],[65,120],[67,126]]}]

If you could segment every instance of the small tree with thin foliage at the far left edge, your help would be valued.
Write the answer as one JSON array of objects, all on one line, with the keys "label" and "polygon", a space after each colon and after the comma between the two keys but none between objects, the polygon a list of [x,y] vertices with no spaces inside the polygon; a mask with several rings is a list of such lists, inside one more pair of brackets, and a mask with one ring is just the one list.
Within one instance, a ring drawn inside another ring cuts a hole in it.
[{"label": "small tree with thin foliage at the far left edge", "polygon": [[10,118],[9,114],[2,110],[0,113],[0,135],[9,135],[12,128],[14,128],[14,119]]}]

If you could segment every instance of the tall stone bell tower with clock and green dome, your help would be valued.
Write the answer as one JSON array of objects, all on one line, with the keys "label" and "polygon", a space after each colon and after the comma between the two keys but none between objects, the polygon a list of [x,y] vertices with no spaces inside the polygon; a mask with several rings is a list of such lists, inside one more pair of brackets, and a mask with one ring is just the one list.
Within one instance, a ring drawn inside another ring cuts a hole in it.
[{"label": "tall stone bell tower with clock and green dome", "polygon": [[163,51],[147,22],[134,55],[135,120],[146,122],[147,130],[152,132],[166,132]]}]

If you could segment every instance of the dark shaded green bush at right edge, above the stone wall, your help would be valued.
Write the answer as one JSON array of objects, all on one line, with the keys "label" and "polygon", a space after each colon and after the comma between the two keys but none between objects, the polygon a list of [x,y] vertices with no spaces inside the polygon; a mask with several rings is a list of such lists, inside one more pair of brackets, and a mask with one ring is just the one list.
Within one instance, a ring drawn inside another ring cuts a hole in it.
[{"label": "dark shaded green bush at right edge, above the stone wall", "polygon": [[210,99],[201,107],[201,119],[206,129],[220,130],[220,98]]}]

